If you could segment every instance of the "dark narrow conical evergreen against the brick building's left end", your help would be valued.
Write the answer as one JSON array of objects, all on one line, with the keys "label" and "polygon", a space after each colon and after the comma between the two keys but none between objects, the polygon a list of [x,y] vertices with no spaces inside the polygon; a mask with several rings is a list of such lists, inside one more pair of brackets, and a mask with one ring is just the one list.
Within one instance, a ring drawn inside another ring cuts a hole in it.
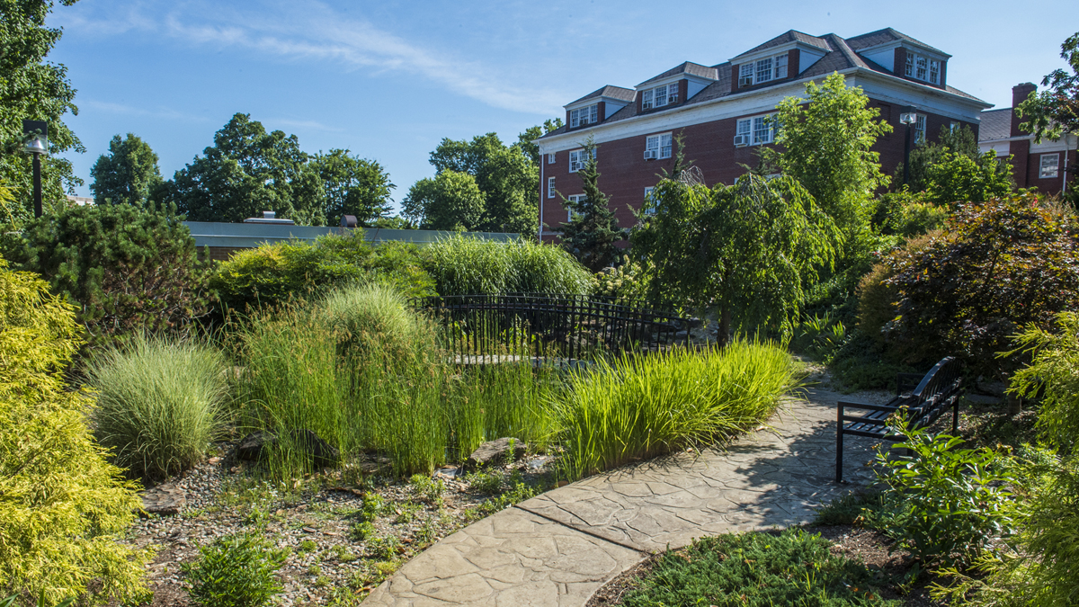
[{"label": "dark narrow conical evergreen against the brick building's left end", "polygon": [[598,272],[618,259],[620,249],[614,243],[626,234],[607,206],[607,197],[599,188],[596,143],[589,137],[584,147],[588,160],[577,174],[584,181],[585,198],[571,201],[561,197],[562,204],[570,210],[570,220],[562,224],[562,247],[586,268]]}]

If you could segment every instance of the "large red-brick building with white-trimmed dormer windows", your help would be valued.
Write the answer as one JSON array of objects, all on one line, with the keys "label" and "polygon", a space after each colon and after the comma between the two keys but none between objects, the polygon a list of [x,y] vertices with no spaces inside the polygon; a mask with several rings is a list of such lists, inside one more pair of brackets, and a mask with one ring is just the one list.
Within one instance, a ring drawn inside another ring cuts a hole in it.
[{"label": "large red-brick building with white-trimmed dormer windows", "polygon": [[[832,72],[861,86],[893,132],[875,150],[886,172],[903,160],[906,126],[900,114],[916,112],[914,137],[934,139],[942,125],[978,132],[982,110],[992,107],[947,85],[947,53],[891,28],[853,38],[788,31],[725,63],[683,63],[632,89],[602,86],[565,106],[565,125],[537,139],[541,157],[541,239],[552,239],[568,212],[558,193],[583,193],[575,175],[584,161],[582,141],[598,145],[600,189],[610,197],[622,227],[673,165],[673,136],[685,138],[685,156],[705,183],[730,184],[754,165],[757,146],[775,133],[765,117],[789,96],[804,96],[805,83]],[[546,225],[547,227],[544,227]]]}]

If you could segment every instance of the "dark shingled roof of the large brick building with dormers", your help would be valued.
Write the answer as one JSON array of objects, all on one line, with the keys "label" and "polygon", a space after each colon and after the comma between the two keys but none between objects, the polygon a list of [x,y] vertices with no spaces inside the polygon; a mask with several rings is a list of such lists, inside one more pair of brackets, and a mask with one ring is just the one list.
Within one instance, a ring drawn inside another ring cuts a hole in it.
[{"label": "dark shingled roof of the large brick building with dormers", "polygon": [[[850,69],[850,68],[869,69],[882,73],[887,73],[890,76],[891,71],[885,69],[884,67],[877,65],[876,63],[865,59],[864,57],[860,56],[857,51],[858,49],[864,49],[866,46],[872,46],[874,44],[880,44],[900,39],[914,41],[917,42],[918,44],[921,44],[923,46],[931,49],[931,46],[923,44],[921,42],[918,42],[917,40],[914,40],[913,38],[900,33],[891,28],[882,29],[879,31],[874,31],[871,33],[865,33],[862,36],[858,36],[856,38],[848,38],[848,39],[841,38],[834,33],[829,33],[821,37],[808,36],[806,33],[802,33],[801,31],[794,31],[792,29],[787,33],[783,33],[782,36],[773,38],[771,40],[765,42],[764,44],[761,44],[760,46],[756,46],[753,50],[748,51],[747,53],[752,53],[763,49],[769,49],[771,46],[786,44],[787,42],[793,40],[798,40],[801,42],[805,42],[806,44],[811,44],[814,46],[817,46],[818,49],[822,49],[825,51],[823,57],[821,57],[817,63],[806,68],[802,73],[797,76],[798,79],[827,76],[832,73],[833,71],[843,71],[845,69]],[[726,97],[728,95],[736,94],[730,92],[730,62],[722,63],[712,67],[706,67],[700,64],[686,62],[675,68],[669,69],[664,73],[660,73],[659,76],[656,76],[655,78],[650,78],[648,80],[645,80],[641,84],[638,84],[638,86],[647,84],[648,82],[658,80],[660,78],[667,78],[669,76],[683,72],[695,73],[697,76],[702,76],[704,78],[711,78],[714,79],[714,82],[712,82],[708,86],[705,86],[701,91],[697,92],[696,95],[689,97],[684,103],[671,106],[671,108],[685,107],[685,106],[691,106],[693,104],[701,104],[705,102],[710,102],[712,99],[718,99],[721,97]],[[777,81],[776,83],[780,84],[783,81]],[[604,86],[603,89],[600,89],[596,93],[586,95],[577,99],[577,102],[582,102],[591,97],[598,97],[602,91],[609,91],[615,89],[618,91],[627,91],[629,93],[633,93],[633,91],[630,91],[629,89],[620,89],[617,86]],[[970,95],[968,93],[964,93],[962,91],[959,91],[954,86],[946,86],[945,90],[953,95],[959,95],[968,99],[981,102],[981,99],[979,99],[978,97]],[[609,95],[609,96],[614,96],[614,95]],[[634,97],[630,96],[627,100],[631,102],[633,99]],[[653,111],[655,110],[651,110],[646,113],[653,113]],[[658,111],[666,111],[666,110],[658,110]],[[991,126],[989,129],[987,129],[985,122],[987,120],[986,117],[993,114],[993,112],[1005,113],[1007,117],[1011,116],[1010,110],[993,110],[992,112],[991,111],[982,112],[983,122],[981,129],[979,130],[979,136],[982,139],[994,138],[989,136],[989,133],[994,132],[993,127]],[[601,124],[606,124],[609,122],[616,122],[618,120],[626,120],[627,118],[633,118],[637,114],[638,114],[637,104],[631,103],[626,107],[616,111],[607,119],[605,119]],[[988,118],[988,120],[993,120],[993,118]],[[1007,118],[1007,120],[1010,120],[1010,118]],[[558,130],[551,131],[550,133],[544,135],[544,137],[560,135],[562,133],[565,133],[566,131],[568,129],[565,126],[562,126]],[[1007,137],[1008,136],[1007,133],[1010,133],[1010,131],[1011,131],[1011,123],[1008,122],[1005,127],[1006,134],[1002,137]]]}]

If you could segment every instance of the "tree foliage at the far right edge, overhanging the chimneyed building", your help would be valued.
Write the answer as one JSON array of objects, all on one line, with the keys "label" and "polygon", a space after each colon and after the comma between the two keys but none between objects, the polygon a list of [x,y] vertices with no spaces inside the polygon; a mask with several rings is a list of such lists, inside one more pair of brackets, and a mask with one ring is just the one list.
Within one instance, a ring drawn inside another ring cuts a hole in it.
[{"label": "tree foliage at the far right edge, overhanging the chimneyed building", "polygon": [[1063,133],[1079,134],[1079,32],[1061,44],[1061,56],[1071,67],[1071,73],[1055,69],[1041,81],[1047,89],[1030,93],[1015,108],[1026,118],[1020,129],[1034,133],[1036,141],[1043,137],[1056,139]]}]

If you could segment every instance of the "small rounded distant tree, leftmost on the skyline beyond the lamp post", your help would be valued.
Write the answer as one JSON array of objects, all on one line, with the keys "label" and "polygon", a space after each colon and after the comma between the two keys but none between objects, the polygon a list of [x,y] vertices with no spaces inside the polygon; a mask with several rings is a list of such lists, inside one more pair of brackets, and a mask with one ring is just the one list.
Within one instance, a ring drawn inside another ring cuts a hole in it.
[{"label": "small rounded distant tree, leftmost on the skyline beyond the lamp post", "polygon": [[97,158],[90,176],[94,179],[90,191],[97,204],[141,204],[163,181],[158,154],[132,133],[123,139],[120,135],[112,137],[109,153]]}]

